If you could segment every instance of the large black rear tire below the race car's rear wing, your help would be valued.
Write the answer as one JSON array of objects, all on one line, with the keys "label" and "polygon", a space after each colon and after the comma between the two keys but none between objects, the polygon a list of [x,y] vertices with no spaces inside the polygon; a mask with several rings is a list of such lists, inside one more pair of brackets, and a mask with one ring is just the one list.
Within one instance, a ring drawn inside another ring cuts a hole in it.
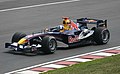
[{"label": "large black rear tire below the race car's rear wing", "polygon": [[110,32],[107,28],[98,27],[94,30],[93,37],[98,45],[107,44],[110,39]]}]

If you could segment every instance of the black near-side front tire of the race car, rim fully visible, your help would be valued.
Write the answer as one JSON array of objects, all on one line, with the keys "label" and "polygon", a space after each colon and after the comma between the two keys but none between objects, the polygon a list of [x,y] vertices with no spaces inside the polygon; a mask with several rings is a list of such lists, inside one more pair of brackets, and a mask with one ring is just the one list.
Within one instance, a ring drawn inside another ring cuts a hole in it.
[{"label": "black near-side front tire of the race car, rim fully visible", "polygon": [[53,54],[57,49],[56,39],[52,36],[45,36],[42,40],[42,52],[45,54]]}]

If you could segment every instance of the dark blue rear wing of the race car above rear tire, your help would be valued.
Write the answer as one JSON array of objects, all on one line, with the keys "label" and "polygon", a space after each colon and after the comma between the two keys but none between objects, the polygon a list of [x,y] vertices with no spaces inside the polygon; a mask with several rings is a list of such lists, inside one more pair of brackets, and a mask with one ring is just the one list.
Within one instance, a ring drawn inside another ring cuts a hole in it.
[{"label": "dark blue rear wing of the race car above rear tire", "polygon": [[80,18],[80,19],[77,19],[77,23],[96,24],[96,27],[106,27],[107,28],[107,20]]}]

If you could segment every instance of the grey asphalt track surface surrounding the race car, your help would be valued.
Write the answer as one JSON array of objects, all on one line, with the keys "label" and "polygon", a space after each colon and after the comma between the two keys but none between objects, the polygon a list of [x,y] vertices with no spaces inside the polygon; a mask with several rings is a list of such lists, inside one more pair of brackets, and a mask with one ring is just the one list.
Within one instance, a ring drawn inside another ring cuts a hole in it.
[{"label": "grey asphalt track surface surrounding the race car", "polygon": [[[20,1],[22,6],[49,3],[41,0],[9,0],[10,3],[1,2],[0,9],[18,7]],[[51,2],[62,0],[51,0]],[[21,6],[21,5],[20,5]],[[101,50],[120,44],[120,0],[80,0],[73,3],[56,4],[49,6],[34,7],[13,11],[0,12],[0,74],[21,69],[24,67],[57,60],[77,54],[83,54],[95,50]],[[43,28],[59,25],[62,16],[70,18],[92,17],[108,19],[108,29],[111,39],[106,45],[90,45],[69,50],[59,49],[55,54],[25,56],[7,53],[9,49],[4,48],[5,42],[10,42],[11,36],[15,32],[32,33]]]}]

